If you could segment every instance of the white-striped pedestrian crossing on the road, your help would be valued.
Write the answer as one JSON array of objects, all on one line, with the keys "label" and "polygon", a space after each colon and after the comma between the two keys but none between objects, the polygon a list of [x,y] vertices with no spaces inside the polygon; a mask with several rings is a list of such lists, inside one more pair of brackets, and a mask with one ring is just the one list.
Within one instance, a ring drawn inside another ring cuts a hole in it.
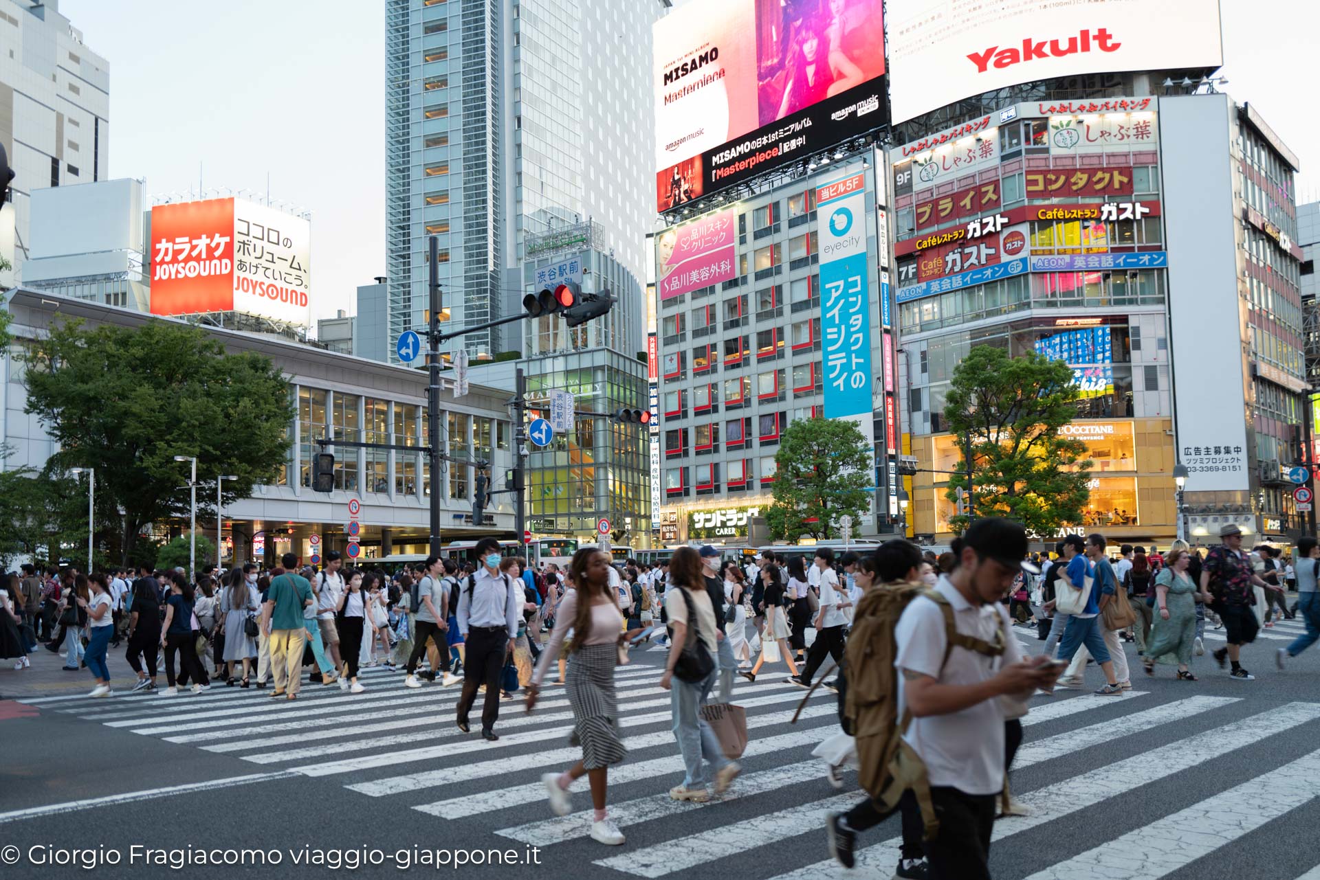
[{"label": "white-striped pedestrian crossing on the road", "polygon": [[[1292,637],[1298,627],[1291,623],[1262,632]],[[292,703],[238,687],[195,697],[25,702],[198,755],[235,759],[251,768],[251,774],[234,777],[240,781],[297,786],[325,780],[374,814],[412,817],[405,821],[418,834],[539,847],[541,864],[585,876],[890,875],[899,859],[896,818],[858,840],[855,869],[826,858],[825,814],[851,807],[862,794],[850,773],[842,792],[830,788],[810,757],[838,730],[836,698],[824,689],[807,698],[791,724],[801,689],[771,674],[755,683],[738,679],[733,702],[746,708],[750,734],[739,759],[743,773],[706,803],[671,800],[668,789],[681,781],[684,765],[671,730],[669,694],[659,687],[660,657],[643,654],[616,676],[628,748],[627,760],[610,770],[610,817],[628,836],[616,848],[589,838],[586,780],[574,785],[569,815],[554,817],[545,805],[540,774],[581,757],[568,743],[572,711],[561,686],[544,689],[535,714],[524,712],[521,699],[503,702],[495,743],[455,727],[458,686],[408,690],[401,673],[383,669],[363,670],[363,694],[308,686]],[[1199,664],[1199,672],[1210,673],[1205,661]],[[1320,749],[1313,748],[1320,702],[1258,702],[1242,685],[1213,673],[1200,686],[1167,677],[1134,683],[1118,698],[1060,691],[1032,699],[1012,774],[1015,794],[1031,814],[995,823],[995,877],[1166,877],[1320,803]],[[479,702],[474,720],[478,714]],[[1159,805],[1155,815],[1151,803]],[[1051,854],[1048,864],[1043,850]]]}]

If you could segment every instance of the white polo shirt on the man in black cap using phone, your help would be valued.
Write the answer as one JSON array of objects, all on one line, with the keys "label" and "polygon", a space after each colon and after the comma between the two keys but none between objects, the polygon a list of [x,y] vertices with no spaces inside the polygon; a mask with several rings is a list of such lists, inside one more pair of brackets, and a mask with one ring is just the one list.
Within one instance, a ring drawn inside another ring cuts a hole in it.
[{"label": "white polo shirt on the man in black cap using phone", "polygon": [[[985,657],[973,650],[954,648],[944,661],[948,644],[944,613],[931,599],[915,599],[903,611],[898,628],[900,670],[899,706],[907,703],[902,670],[937,678],[944,685],[977,685],[994,678],[999,669],[1022,660],[1022,648],[1008,628],[1005,607],[995,602],[973,606],[958,592],[946,575],[940,575],[935,588],[953,606],[953,623],[958,632],[993,643],[995,631],[1007,633],[1002,657]],[[904,739],[925,761],[931,785],[946,785],[966,794],[998,794],[1003,790],[1003,722],[1001,701],[987,699],[949,715],[913,718]]]}]

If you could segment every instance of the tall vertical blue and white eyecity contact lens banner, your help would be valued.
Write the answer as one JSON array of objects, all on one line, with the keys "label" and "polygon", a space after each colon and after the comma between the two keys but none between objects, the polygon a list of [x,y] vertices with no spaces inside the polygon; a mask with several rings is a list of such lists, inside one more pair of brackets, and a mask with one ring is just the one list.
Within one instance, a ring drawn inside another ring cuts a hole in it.
[{"label": "tall vertical blue and white eyecity contact lens banner", "polygon": [[870,442],[873,373],[863,173],[816,190],[816,224],[821,255],[825,418],[855,421]]}]

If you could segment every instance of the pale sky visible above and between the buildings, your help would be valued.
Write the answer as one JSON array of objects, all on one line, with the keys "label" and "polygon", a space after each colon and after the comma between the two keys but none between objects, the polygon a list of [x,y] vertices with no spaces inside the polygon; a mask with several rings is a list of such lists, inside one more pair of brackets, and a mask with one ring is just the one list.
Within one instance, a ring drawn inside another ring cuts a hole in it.
[{"label": "pale sky visible above and between the buildings", "polygon": [[[111,177],[144,178],[150,195],[201,185],[264,197],[269,181],[272,199],[312,211],[313,318],[351,314],[356,286],[385,267],[384,3],[59,7],[110,61]],[[1311,107],[1320,4],[1221,0],[1221,9],[1224,88],[1300,157],[1299,201],[1320,199]]]}]

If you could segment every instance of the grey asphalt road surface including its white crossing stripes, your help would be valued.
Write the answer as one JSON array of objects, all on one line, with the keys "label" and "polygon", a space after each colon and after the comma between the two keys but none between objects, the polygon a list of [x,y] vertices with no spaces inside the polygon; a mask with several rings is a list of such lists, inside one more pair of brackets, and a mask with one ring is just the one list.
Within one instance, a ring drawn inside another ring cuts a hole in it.
[{"label": "grey asphalt road surface including its white crossing stripes", "polygon": [[[1012,773],[1034,814],[997,823],[994,876],[1320,877],[1320,648],[1282,673],[1272,657],[1298,629],[1262,631],[1246,648],[1254,682],[1229,679],[1209,656],[1196,658],[1200,682],[1175,681],[1170,668],[1147,678],[1129,645],[1129,695],[1035,698]],[[1039,649],[1034,635],[1020,637]],[[543,772],[576,755],[562,689],[546,689],[532,716],[520,701],[503,703],[502,739],[484,743],[454,727],[457,687],[409,691],[401,674],[374,670],[366,694],[309,686],[292,706],[224,687],[9,703],[0,711],[0,876],[330,876],[345,872],[327,867],[337,858],[380,859],[352,876],[399,876],[400,859],[437,851],[445,872],[457,851],[510,860],[459,868],[482,879],[891,875],[896,818],[859,839],[855,871],[829,862],[821,819],[859,798],[855,776],[845,774],[843,792],[824,778],[810,751],[837,730],[833,694],[817,691],[807,718],[789,724],[804,691],[783,683],[783,665],[735,687],[752,745],[730,793],[705,806],[669,801],[681,769],[668,698],[655,686],[661,661],[657,649],[635,653],[619,673],[630,755],[611,772],[610,802],[628,838],[620,847],[585,836],[585,782],[566,819],[550,815],[539,788]],[[1088,682],[1100,683],[1094,666]],[[95,862],[91,872],[50,864],[73,848]],[[267,864],[173,869],[148,850],[194,859],[261,851]]]}]

